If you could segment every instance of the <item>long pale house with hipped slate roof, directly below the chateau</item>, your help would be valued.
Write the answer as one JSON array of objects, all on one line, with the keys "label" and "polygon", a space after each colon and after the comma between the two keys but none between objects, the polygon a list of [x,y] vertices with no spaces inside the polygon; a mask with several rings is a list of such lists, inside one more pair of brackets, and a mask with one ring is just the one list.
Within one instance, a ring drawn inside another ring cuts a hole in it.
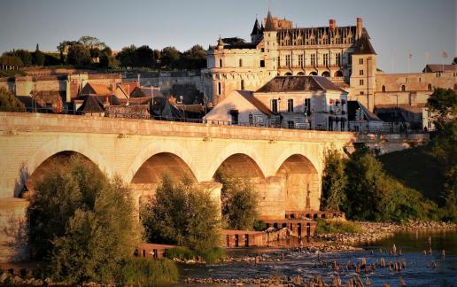
[{"label": "long pale house with hipped slate roof, directly below the chateau", "polygon": [[276,76],[253,96],[283,128],[347,130],[347,92],[326,77]]}]

